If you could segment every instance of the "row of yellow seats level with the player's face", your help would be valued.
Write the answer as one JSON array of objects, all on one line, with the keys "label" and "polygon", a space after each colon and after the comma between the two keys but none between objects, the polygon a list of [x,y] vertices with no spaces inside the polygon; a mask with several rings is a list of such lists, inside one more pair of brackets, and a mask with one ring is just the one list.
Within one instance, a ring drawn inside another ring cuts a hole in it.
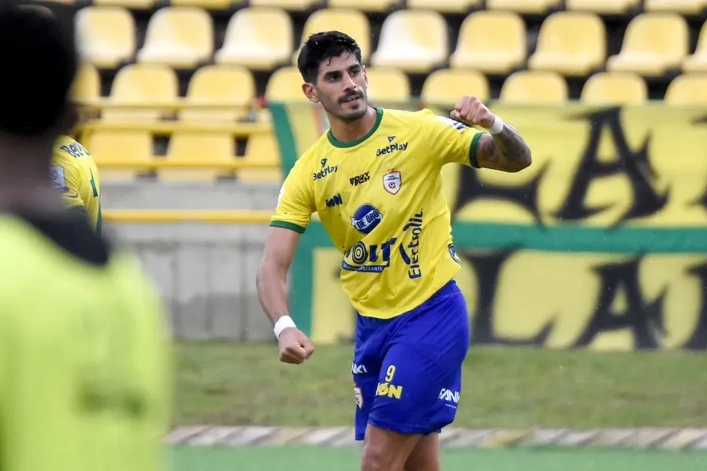
[{"label": "row of yellow seats level with the player's face", "polygon": [[[407,76],[395,68],[367,69],[369,98],[373,102],[406,102],[411,99]],[[268,101],[302,102],[302,77],[294,67],[279,68],[267,84]],[[75,84],[74,96],[85,101],[99,101],[98,72],[83,66]],[[179,119],[240,120],[247,117],[256,100],[255,81],[250,71],[238,66],[209,65],[199,68],[183,99],[178,95],[177,76],[167,66],[131,64],[120,69],[112,84],[112,105],[104,109],[104,119],[160,119],[173,116],[171,110],[119,109],[119,105],[171,106],[222,105],[228,109],[183,109]],[[423,84],[421,100],[438,105],[453,105],[462,95],[473,94],[481,100],[490,98],[489,83],[478,71],[440,69]],[[568,100],[566,81],[557,73],[518,71],[510,74],[501,88],[504,102],[563,102]],[[590,76],[580,100],[592,103],[636,103],[648,100],[648,88],[641,76],[624,72],[600,72]],[[665,100],[677,104],[707,103],[707,74],[686,73],[677,76],[667,88]]]}]

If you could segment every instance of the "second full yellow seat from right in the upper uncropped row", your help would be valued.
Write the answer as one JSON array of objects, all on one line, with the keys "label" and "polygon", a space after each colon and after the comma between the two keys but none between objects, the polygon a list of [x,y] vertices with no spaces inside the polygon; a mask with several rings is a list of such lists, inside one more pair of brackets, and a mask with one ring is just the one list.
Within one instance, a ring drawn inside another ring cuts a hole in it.
[{"label": "second full yellow seat from right in the upper uncropped row", "polygon": [[604,23],[595,13],[552,13],[540,27],[528,68],[585,76],[604,65],[606,35]]}]

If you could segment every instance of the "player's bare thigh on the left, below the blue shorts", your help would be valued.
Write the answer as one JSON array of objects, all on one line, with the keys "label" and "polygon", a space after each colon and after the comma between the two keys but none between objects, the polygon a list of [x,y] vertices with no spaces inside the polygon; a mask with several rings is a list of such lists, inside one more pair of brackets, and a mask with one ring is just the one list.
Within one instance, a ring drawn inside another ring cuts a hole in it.
[{"label": "player's bare thigh on the left, below the blue shorts", "polygon": [[404,471],[420,438],[419,434],[399,434],[368,424],[361,471]]}]

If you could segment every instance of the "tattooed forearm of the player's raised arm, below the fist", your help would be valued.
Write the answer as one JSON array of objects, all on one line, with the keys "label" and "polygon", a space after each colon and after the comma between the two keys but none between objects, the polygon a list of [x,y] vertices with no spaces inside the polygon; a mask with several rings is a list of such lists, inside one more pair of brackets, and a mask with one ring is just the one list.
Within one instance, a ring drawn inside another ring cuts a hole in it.
[{"label": "tattooed forearm of the player's raised arm, below the fist", "polygon": [[518,172],[532,162],[530,148],[518,131],[508,124],[503,131],[479,142],[479,166],[503,172]]}]

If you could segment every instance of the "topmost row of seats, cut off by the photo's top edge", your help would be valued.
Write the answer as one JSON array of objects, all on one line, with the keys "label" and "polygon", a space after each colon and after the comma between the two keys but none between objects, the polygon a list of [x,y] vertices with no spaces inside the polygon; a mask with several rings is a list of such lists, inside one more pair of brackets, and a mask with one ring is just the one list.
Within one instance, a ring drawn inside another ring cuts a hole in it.
[{"label": "topmost row of seats, cut off by the photo's top edge", "polygon": [[[84,0],[58,0],[64,3],[84,3]],[[119,5],[129,8],[153,8],[160,0],[93,0],[94,5]],[[238,8],[247,0],[170,0],[175,6],[201,6],[210,9]],[[519,13],[547,13],[566,8],[569,11],[595,13],[626,13],[637,9],[645,11],[676,11],[697,14],[707,8],[707,0],[250,0],[250,6],[274,6],[289,11],[307,11],[312,8],[356,8],[361,11],[383,12],[391,8],[428,8],[440,13],[466,13],[470,9],[518,11]]]}]

